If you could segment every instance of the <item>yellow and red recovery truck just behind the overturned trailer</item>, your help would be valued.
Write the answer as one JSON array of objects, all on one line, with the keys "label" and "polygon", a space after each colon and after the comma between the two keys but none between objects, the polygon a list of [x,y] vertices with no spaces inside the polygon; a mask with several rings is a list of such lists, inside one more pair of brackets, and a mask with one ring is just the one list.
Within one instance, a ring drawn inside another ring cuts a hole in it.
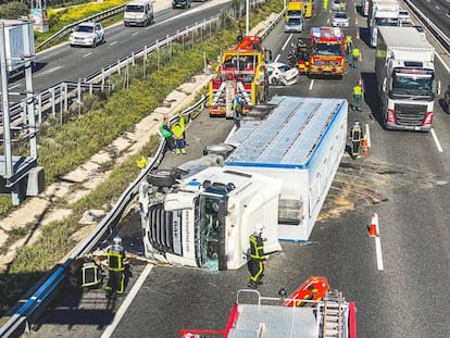
[{"label": "yellow and red recovery truck just behind the overturned trailer", "polygon": [[211,116],[233,116],[232,100],[245,100],[243,112],[250,105],[265,101],[268,95],[268,76],[265,53],[258,36],[246,36],[225,51],[209,85]]}]

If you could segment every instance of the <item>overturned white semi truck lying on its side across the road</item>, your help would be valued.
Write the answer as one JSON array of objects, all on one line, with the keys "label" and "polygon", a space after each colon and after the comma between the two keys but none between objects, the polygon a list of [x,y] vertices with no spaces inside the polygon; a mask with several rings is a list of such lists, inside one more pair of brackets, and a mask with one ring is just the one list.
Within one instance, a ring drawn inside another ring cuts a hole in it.
[{"label": "overturned white semi truck lying on its side across the road", "polygon": [[237,270],[260,223],[266,253],[309,239],[345,151],[348,103],[275,97],[268,107],[203,158],[149,173],[139,187],[149,259]]}]

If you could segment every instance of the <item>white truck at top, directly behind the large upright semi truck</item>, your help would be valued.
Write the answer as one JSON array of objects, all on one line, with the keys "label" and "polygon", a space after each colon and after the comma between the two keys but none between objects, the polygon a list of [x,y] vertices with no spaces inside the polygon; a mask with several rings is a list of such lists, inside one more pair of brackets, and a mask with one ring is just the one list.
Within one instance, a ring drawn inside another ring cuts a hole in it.
[{"label": "white truck at top, directly behind the large upright semi truck", "polygon": [[400,4],[397,0],[370,0],[367,27],[371,46],[376,47],[378,27],[399,26]]}]

